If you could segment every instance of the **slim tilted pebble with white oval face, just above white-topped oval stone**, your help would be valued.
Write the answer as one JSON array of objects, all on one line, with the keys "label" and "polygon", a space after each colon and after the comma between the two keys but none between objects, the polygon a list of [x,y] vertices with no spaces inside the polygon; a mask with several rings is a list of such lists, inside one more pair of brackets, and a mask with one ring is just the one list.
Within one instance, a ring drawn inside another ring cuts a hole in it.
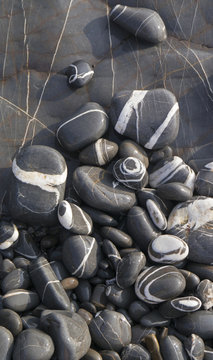
[{"label": "slim tilted pebble with white oval face, just above white-topped oval stone", "polygon": [[155,226],[160,230],[166,230],[167,220],[158,203],[148,199],[146,202],[146,208]]}]

